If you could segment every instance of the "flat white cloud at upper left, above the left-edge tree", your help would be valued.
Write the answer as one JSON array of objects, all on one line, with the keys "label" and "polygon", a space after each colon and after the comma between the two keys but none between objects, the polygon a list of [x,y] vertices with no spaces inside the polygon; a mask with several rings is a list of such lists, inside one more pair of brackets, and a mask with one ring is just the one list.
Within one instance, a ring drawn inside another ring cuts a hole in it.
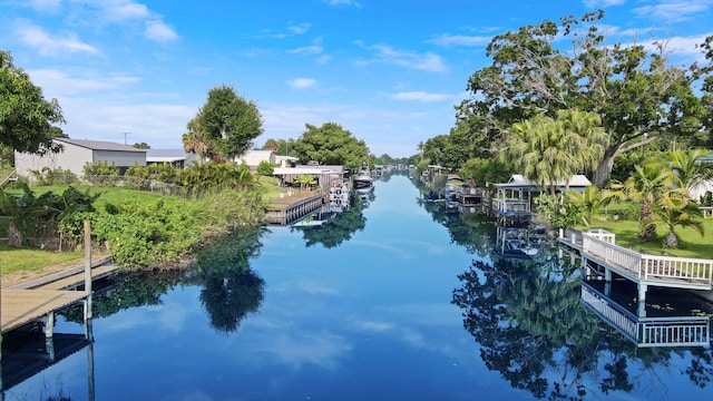
[{"label": "flat white cloud at upper left, above the left-edge tree", "polygon": [[65,36],[51,36],[41,27],[26,20],[19,20],[16,23],[14,32],[22,43],[37,49],[43,56],[76,52],[96,55],[99,52],[96,47],[82,42],[74,32]]}]

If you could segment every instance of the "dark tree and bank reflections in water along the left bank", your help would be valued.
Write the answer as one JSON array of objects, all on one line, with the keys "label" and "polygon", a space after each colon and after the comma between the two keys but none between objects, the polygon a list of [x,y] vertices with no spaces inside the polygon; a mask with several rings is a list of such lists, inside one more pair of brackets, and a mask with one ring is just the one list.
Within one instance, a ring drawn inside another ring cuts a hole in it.
[{"label": "dark tree and bank reflections in water along the left bank", "polygon": [[[195,285],[201,287],[198,299],[208,315],[211,326],[221,333],[235,332],[245,316],[257,312],[263,301],[264,281],[248,264],[251,257],[258,254],[263,234],[263,229],[256,229],[234,233],[215,241],[203,248],[187,268],[118,274],[97,287],[91,303],[94,319],[109,317],[137,306],[160,306],[164,294],[178,286]],[[59,314],[67,322],[84,324],[81,304],[70,306]],[[91,320],[87,325],[91,327]],[[33,331],[18,330],[3,338],[0,394],[88,346],[88,399],[94,399],[94,341],[87,340],[85,334],[55,333],[51,341],[46,342],[39,326],[30,329]],[[69,400],[61,392],[61,381],[57,385],[58,390],[42,391],[46,394],[58,394],[47,399]]]}]

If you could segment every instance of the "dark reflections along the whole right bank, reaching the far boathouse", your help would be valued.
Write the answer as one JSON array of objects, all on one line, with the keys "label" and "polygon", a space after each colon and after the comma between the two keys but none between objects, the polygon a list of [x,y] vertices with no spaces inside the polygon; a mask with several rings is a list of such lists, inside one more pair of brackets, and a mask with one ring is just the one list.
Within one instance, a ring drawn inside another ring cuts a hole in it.
[{"label": "dark reflections along the whole right bank, reaching the far boathouse", "polygon": [[[638,348],[587,307],[578,261],[558,258],[557,246],[539,232],[497,227],[484,215],[455,214],[446,203],[420,204],[449,229],[453,242],[481,257],[459,275],[452,303],[462,310],[463,327],[480,344],[488,369],[512,388],[551,400],[647,391],[660,398],[671,391],[661,372],[681,359],[688,361],[683,376],[699,388],[710,385],[710,349]],[[512,248],[515,241],[527,246]],[[616,296],[634,299],[636,288],[629,290]],[[685,296],[653,296],[649,315],[672,309],[672,303],[688,315],[704,309],[702,304],[710,309],[704,302],[685,306]]]}]

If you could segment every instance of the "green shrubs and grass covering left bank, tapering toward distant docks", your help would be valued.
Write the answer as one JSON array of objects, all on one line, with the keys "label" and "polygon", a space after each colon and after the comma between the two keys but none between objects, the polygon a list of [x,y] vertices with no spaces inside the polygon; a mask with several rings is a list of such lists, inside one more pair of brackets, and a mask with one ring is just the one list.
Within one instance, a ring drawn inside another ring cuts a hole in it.
[{"label": "green shrubs and grass covering left bank, tapering toward distant docks", "polygon": [[[257,177],[257,176],[256,176]],[[70,185],[38,185],[42,194],[62,194]],[[260,176],[238,188],[214,188],[201,196],[164,196],[120,186],[71,185],[79,193],[98,196],[91,221],[92,258],[111,254],[129,270],[184,268],[213,242],[236,232],[258,229],[266,206],[296,202],[315,193],[295,189],[287,194],[271,177]],[[19,189],[9,190],[21,194]],[[216,213],[219,211],[219,213]],[[124,216],[124,217],[118,217]],[[82,216],[78,216],[82,217]],[[85,216],[86,217],[86,216]],[[0,217],[0,237],[8,237],[10,221]],[[107,239],[114,236],[114,239]],[[84,263],[82,251],[56,252],[36,246],[0,243],[1,286],[13,285]]]}]

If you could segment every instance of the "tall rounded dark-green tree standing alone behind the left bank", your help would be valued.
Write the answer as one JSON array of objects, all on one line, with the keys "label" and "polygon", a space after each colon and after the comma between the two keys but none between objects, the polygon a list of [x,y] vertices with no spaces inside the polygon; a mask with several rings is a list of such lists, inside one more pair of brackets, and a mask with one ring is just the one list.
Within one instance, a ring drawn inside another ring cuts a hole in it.
[{"label": "tall rounded dark-green tree standing alone behind the left bank", "polygon": [[253,139],[263,133],[257,106],[235,92],[231,86],[208,91],[206,102],[187,124],[184,149],[198,156],[232,159],[251,148]]}]

